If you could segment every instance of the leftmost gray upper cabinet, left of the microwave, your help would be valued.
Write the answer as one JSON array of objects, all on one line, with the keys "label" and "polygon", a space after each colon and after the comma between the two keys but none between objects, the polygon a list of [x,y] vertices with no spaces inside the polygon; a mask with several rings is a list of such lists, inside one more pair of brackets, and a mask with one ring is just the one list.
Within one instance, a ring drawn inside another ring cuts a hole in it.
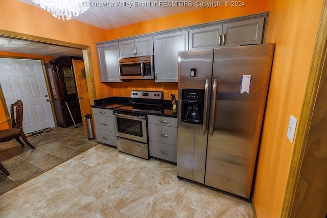
[{"label": "leftmost gray upper cabinet, left of the microwave", "polygon": [[118,42],[101,44],[97,48],[101,82],[122,82],[119,79]]}]

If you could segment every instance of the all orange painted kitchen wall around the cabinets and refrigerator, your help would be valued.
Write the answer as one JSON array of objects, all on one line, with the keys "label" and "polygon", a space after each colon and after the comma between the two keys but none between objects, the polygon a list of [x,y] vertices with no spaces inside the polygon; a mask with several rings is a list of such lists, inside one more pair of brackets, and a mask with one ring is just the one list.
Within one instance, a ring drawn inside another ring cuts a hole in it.
[{"label": "all orange painted kitchen wall around the cabinets and refrigerator", "polygon": [[101,83],[95,43],[270,11],[266,42],[276,43],[276,52],[253,201],[258,217],[279,217],[293,152],[286,138],[287,124],[291,114],[300,115],[322,2],[247,0],[245,7],[201,9],[104,31],[76,20],[57,20],[49,12],[18,1],[0,1],[1,19],[6,20],[0,22],[0,29],[89,45],[97,98],[128,96],[134,88],[176,94],[176,83]]}]

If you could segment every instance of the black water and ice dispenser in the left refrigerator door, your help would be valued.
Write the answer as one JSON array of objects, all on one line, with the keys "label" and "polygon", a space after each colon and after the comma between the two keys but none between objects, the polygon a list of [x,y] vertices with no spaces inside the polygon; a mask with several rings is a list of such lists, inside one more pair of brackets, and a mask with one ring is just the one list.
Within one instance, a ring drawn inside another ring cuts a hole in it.
[{"label": "black water and ice dispenser in the left refrigerator door", "polygon": [[182,89],[181,121],[202,124],[204,89]]}]

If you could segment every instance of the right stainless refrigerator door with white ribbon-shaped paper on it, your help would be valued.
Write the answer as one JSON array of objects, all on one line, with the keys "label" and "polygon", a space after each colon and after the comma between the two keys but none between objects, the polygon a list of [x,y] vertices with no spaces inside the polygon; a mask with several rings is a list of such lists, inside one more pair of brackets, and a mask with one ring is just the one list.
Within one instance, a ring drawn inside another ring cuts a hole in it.
[{"label": "right stainless refrigerator door with white ribbon-shaped paper on it", "polygon": [[215,49],[208,186],[250,197],[273,53],[274,44]]}]

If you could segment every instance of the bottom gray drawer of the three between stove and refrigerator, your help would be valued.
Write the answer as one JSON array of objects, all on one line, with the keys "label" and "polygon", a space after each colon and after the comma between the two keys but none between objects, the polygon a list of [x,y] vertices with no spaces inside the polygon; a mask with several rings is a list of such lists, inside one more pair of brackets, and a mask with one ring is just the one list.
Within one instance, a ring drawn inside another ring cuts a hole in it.
[{"label": "bottom gray drawer of the three between stove and refrigerator", "polygon": [[149,141],[150,156],[177,162],[177,147],[156,141]]}]

